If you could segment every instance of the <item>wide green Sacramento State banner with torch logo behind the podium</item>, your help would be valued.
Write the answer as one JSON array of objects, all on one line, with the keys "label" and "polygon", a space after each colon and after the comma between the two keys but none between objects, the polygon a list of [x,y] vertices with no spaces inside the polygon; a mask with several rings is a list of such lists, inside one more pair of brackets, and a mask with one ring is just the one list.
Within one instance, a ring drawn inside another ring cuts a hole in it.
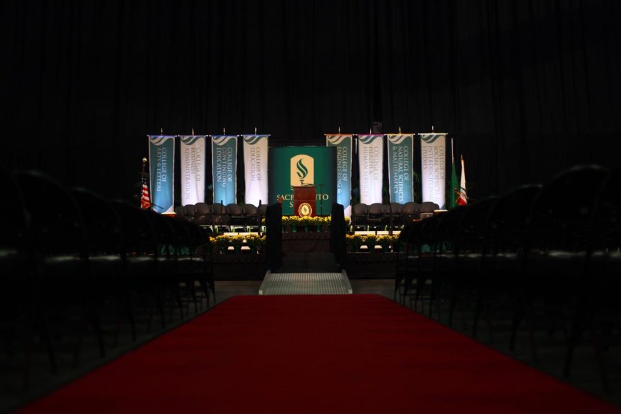
[{"label": "wide green Sacramento State banner with torch logo behind the podium", "polygon": [[328,146],[273,147],[268,155],[270,204],[279,197],[282,214],[293,215],[291,186],[317,186],[317,215],[329,215],[336,202],[337,151]]}]

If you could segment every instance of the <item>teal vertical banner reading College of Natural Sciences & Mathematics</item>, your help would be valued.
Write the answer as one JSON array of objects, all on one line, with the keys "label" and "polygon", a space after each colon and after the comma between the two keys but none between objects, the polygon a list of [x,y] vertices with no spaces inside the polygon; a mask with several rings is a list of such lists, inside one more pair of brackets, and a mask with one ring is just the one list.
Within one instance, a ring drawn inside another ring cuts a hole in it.
[{"label": "teal vertical banner reading College of Natural Sciences & Mathematics", "polygon": [[388,135],[388,186],[391,202],[414,201],[414,135]]}]

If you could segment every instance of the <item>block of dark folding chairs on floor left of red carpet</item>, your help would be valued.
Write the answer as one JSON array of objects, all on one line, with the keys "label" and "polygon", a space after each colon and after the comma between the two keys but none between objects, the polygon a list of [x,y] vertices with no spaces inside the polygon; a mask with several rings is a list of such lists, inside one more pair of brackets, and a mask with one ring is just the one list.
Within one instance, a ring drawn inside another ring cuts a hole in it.
[{"label": "block of dark folding chairs on floor left of red carpet", "polygon": [[57,348],[69,346],[77,364],[86,335],[103,357],[119,337],[135,339],[154,320],[164,328],[173,313],[184,319],[215,302],[201,226],[64,188],[39,172],[0,176],[0,343],[26,354],[24,386],[33,349],[56,372]]}]

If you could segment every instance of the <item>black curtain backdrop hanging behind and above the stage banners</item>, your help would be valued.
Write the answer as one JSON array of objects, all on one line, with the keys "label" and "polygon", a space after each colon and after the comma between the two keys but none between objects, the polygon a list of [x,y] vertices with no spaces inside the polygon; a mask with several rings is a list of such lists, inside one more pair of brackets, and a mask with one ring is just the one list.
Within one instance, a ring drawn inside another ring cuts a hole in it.
[{"label": "black curtain backdrop hanging behind and above the stage banners", "polygon": [[5,0],[0,19],[0,162],[108,196],[160,128],[323,145],[433,125],[475,198],[618,164],[618,0]]}]

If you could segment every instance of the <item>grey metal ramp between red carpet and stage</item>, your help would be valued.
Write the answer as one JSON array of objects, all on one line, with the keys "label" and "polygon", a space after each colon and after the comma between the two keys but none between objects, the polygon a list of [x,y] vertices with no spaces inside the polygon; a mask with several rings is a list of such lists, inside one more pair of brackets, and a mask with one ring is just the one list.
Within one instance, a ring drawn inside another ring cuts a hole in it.
[{"label": "grey metal ramp between red carpet and stage", "polygon": [[345,270],[335,273],[265,274],[259,295],[351,295]]}]

